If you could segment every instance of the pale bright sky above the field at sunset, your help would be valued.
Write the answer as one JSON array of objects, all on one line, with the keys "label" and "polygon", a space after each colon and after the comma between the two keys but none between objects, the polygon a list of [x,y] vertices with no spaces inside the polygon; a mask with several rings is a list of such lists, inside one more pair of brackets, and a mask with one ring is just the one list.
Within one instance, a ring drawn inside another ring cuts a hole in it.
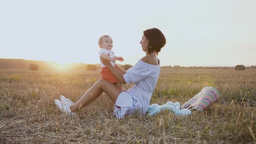
[{"label": "pale bright sky above the field at sunset", "polygon": [[256,65],[256,0],[1,0],[0,58],[99,63],[98,39],[134,65],[158,28],[161,66]]}]

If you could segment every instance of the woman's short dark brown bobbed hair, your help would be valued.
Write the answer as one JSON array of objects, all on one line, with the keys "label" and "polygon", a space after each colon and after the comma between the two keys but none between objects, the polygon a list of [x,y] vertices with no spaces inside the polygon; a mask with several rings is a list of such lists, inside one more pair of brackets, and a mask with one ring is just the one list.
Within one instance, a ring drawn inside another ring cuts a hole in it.
[{"label": "woman's short dark brown bobbed hair", "polygon": [[161,51],[161,48],[164,47],[166,43],[164,34],[157,28],[147,29],[143,33],[148,39],[149,54],[155,50],[158,55],[158,52]]}]

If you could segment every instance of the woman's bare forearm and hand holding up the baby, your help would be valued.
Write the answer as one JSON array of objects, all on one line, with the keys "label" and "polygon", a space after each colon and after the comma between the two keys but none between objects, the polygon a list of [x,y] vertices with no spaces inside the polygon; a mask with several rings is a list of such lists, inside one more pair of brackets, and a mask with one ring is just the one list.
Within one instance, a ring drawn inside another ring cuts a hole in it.
[{"label": "woman's bare forearm and hand holding up the baby", "polygon": [[104,65],[108,67],[110,72],[112,72],[112,74],[115,75],[116,79],[118,79],[119,82],[121,82],[122,84],[126,84],[123,74],[119,72],[117,69],[115,69],[108,60],[101,58],[101,61]]}]

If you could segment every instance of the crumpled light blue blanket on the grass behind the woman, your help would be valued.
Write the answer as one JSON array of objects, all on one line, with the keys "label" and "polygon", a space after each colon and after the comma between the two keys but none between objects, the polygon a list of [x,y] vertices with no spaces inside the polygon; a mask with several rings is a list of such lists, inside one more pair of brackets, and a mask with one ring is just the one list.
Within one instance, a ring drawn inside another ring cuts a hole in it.
[{"label": "crumpled light blue blanket on the grass behind the woman", "polygon": [[191,115],[191,111],[183,108],[181,108],[181,104],[180,102],[171,102],[171,101],[167,101],[166,104],[164,105],[158,105],[158,104],[153,104],[153,105],[149,105],[148,108],[148,115],[156,115],[158,113],[160,113],[161,110],[165,111],[166,109],[169,111],[173,111],[174,115],[181,115],[181,116],[187,116],[187,115]]}]

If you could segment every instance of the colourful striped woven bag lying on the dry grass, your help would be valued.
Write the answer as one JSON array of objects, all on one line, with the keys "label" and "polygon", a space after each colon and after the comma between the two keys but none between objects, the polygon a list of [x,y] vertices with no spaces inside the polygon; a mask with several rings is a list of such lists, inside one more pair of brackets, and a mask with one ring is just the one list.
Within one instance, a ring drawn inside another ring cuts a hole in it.
[{"label": "colourful striped woven bag lying on the dry grass", "polygon": [[220,98],[220,93],[216,88],[213,87],[204,87],[201,92],[195,95],[193,98],[181,105],[182,108],[187,109],[197,109],[200,112],[209,108],[213,103],[218,101]]}]

